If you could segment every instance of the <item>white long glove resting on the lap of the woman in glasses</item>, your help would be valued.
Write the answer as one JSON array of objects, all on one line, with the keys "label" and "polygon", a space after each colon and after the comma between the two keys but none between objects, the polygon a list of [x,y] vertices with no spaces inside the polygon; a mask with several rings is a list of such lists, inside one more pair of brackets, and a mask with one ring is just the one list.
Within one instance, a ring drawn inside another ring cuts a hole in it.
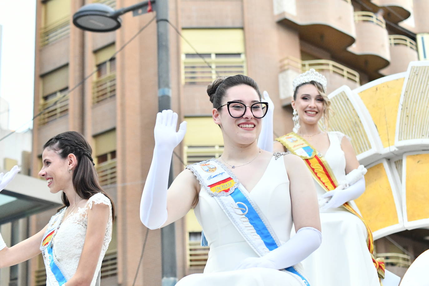
[{"label": "white long glove resting on the lap of the woman in glasses", "polygon": [[313,227],[302,227],[289,241],[261,257],[248,257],[237,269],[264,267],[281,270],[293,266],[316,250],[322,243],[322,234]]}]

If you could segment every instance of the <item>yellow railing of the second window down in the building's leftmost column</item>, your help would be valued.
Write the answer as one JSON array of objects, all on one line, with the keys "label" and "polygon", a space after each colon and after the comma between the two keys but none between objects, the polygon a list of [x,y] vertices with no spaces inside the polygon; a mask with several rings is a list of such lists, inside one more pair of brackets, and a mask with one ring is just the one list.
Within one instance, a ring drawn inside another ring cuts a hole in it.
[{"label": "yellow railing of the second window down in the building's leftmost column", "polygon": [[44,125],[69,113],[69,94],[68,91],[65,91],[65,93],[67,94],[64,96],[64,93],[57,92],[54,98],[42,100],[39,111],[45,108],[46,110],[39,117],[39,125]]}]

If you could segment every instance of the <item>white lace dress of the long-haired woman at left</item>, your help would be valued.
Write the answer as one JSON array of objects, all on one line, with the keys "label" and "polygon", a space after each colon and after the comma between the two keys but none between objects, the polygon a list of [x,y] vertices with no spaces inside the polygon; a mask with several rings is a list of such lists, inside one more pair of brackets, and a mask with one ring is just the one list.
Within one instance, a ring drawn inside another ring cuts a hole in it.
[{"label": "white lace dress of the long-haired woman at left", "polygon": [[[88,210],[92,208],[93,204],[108,205],[110,212],[106,234],[104,235],[103,247],[101,248],[100,257],[98,258],[97,268],[91,281],[91,286],[97,285],[97,277],[100,272],[101,262],[103,261],[104,254],[106,253],[107,247],[109,247],[109,243],[112,238],[112,204],[110,203],[109,198],[104,196],[102,193],[97,193],[89,198],[83,208],[78,208],[75,213],[69,214],[69,216],[66,217],[57,229],[52,240],[53,252],[57,262],[59,263],[60,270],[64,277],[69,280],[73,277],[76,269],[78,268],[88,226]],[[66,209],[67,207],[52,216],[51,220],[49,220],[49,225],[51,225],[55,220],[62,220]],[[40,250],[42,250],[42,244],[40,245]],[[45,261],[45,266],[48,267],[49,262],[46,257],[44,256],[43,259]],[[48,275],[46,286],[57,285],[59,285],[57,280],[53,277],[49,277]]]}]

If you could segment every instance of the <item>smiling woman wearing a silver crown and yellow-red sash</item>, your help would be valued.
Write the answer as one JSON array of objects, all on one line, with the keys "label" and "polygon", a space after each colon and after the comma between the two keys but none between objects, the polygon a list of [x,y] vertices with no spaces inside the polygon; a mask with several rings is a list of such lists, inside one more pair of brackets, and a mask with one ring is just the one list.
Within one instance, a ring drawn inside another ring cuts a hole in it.
[{"label": "smiling woman wearing a silver crown and yellow-red sash", "polygon": [[301,157],[316,183],[323,242],[303,261],[308,277],[317,286],[378,286],[384,263],[373,256],[372,232],[349,202],[365,191],[366,169],[344,134],[326,130],[326,78],[311,69],[293,81],[293,88],[294,132],[277,138],[274,150]]}]

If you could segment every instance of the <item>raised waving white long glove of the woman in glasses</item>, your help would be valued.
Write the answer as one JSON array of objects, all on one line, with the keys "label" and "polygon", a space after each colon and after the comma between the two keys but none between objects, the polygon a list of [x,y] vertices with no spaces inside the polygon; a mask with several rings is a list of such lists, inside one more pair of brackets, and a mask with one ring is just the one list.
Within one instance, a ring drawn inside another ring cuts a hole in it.
[{"label": "raised waving white long glove of the woman in glasses", "polygon": [[149,229],[160,228],[167,220],[167,189],[174,148],[186,132],[186,121],[176,132],[177,113],[172,110],[158,112],[154,128],[155,148],[151,167],[140,202],[140,220]]}]

